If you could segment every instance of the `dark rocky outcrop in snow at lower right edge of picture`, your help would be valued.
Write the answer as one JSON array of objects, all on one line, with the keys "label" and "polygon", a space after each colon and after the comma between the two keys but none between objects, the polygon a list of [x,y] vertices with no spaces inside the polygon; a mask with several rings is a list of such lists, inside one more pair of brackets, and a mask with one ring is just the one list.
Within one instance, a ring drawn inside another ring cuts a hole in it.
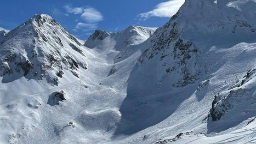
[{"label": "dark rocky outcrop in snow at lower right edge of picture", "polygon": [[230,88],[229,91],[215,95],[212,109],[210,110],[210,115],[213,121],[219,121],[225,113],[235,111],[232,110],[235,107],[242,105],[243,107],[250,107],[253,105],[253,103],[248,105],[244,104],[246,101],[252,101],[255,98],[255,72],[256,69],[254,67],[247,72],[242,80],[238,81],[234,87]]}]

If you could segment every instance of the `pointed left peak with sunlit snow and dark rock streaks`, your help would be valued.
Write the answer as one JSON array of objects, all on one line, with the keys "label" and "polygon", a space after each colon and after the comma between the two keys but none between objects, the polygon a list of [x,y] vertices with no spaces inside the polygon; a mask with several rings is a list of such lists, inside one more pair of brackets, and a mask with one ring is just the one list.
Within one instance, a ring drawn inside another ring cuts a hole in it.
[{"label": "pointed left peak with sunlit snow and dark rock streaks", "polygon": [[64,71],[78,77],[77,69],[87,69],[82,44],[48,15],[35,15],[4,35],[0,45],[4,83],[25,76],[58,85]]}]

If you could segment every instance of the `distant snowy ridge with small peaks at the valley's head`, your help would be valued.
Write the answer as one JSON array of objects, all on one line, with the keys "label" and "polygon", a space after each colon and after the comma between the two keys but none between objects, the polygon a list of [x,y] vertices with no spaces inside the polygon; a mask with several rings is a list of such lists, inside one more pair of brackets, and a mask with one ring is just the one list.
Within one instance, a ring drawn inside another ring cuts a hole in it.
[{"label": "distant snowy ridge with small peaks at the valley's head", "polygon": [[129,26],[124,31],[117,33],[96,30],[94,34],[90,35],[84,46],[91,49],[98,47],[98,49],[122,51],[127,46],[143,43],[155,30],[156,28],[139,26]]}]

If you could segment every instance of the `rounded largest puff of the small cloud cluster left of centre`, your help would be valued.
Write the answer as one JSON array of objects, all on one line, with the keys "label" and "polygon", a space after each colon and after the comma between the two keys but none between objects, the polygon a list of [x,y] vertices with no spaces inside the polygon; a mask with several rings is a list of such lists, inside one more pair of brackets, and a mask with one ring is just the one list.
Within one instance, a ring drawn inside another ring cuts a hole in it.
[{"label": "rounded largest puff of the small cloud cluster left of centre", "polygon": [[94,8],[86,8],[83,9],[83,14],[81,15],[81,18],[88,23],[95,23],[102,21],[103,15],[101,15],[101,13]]}]

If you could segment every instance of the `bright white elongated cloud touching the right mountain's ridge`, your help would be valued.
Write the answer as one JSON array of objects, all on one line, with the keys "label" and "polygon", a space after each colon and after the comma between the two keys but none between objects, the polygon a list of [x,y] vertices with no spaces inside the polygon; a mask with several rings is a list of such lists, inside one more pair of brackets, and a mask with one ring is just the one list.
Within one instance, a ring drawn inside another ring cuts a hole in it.
[{"label": "bright white elongated cloud touching the right mountain's ridge", "polygon": [[146,13],[141,13],[139,16],[143,18],[143,20],[149,19],[149,17],[156,16],[156,17],[172,17],[181,5],[183,5],[185,0],[172,0],[168,2],[163,2],[156,5],[156,8],[147,11]]}]

